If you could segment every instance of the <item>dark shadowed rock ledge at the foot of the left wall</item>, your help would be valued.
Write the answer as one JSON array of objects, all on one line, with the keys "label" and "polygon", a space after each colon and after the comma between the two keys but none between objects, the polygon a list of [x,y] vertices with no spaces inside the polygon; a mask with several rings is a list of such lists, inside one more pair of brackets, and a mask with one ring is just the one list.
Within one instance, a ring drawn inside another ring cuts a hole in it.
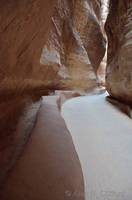
[{"label": "dark shadowed rock ledge at the foot of the left wall", "polygon": [[27,143],[41,101],[30,97],[0,102],[0,185],[8,176]]}]

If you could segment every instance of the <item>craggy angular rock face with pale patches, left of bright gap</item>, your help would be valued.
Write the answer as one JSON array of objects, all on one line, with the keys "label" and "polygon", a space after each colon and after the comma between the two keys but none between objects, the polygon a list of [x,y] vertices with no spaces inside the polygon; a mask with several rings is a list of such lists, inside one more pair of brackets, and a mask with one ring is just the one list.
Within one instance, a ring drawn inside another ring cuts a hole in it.
[{"label": "craggy angular rock face with pale patches, left of bright gap", "polygon": [[44,69],[54,69],[54,78],[66,80],[67,88],[96,85],[105,53],[100,14],[99,1],[58,0],[40,61]]}]

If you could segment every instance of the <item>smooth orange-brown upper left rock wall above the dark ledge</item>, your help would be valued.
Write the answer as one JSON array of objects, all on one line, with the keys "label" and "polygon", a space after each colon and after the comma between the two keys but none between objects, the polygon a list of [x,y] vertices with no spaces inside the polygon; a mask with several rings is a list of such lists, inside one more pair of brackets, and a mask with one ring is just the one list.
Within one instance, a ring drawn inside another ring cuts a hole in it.
[{"label": "smooth orange-brown upper left rock wall above the dark ledge", "polygon": [[[40,55],[57,0],[0,1],[0,92],[32,89],[44,81]],[[47,71],[46,71],[47,73]]]}]

